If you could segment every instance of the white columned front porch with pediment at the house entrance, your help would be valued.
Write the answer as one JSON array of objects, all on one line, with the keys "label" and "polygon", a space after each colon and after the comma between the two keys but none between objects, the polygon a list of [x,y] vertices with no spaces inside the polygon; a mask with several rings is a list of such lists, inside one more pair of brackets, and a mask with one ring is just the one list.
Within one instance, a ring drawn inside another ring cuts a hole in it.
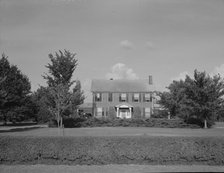
[{"label": "white columned front porch with pediment at the house entrance", "polygon": [[116,110],[116,117],[122,119],[129,119],[132,118],[133,114],[133,106],[128,103],[122,103],[115,106]]}]

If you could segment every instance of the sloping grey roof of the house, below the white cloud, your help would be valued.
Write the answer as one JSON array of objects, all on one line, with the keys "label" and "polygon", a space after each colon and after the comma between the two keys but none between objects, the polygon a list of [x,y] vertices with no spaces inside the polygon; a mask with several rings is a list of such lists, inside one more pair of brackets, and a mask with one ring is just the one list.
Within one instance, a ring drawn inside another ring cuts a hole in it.
[{"label": "sloping grey roof of the house, below the white cloud", "polygon": [[92,92],[149,92],[153,91],[153,85],[148,80],[105,80],[94,79],[91,86]]}]

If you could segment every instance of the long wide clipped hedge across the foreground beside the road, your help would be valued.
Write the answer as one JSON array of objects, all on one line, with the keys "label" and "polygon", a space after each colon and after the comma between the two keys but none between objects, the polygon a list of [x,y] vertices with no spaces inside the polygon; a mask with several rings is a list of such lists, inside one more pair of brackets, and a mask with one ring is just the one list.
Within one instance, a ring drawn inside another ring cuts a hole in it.
[{"label": "long wide clipped hedge across the foreground beside the road", "polygon": [[0,164],[224,165],[224,139],[208,137],[0,138]]}]

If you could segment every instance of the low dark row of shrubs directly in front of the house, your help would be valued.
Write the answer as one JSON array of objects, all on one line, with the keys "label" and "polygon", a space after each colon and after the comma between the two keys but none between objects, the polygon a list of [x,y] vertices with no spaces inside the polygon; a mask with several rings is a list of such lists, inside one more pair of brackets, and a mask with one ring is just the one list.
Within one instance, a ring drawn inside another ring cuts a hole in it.
[{"label": "low dark row of shrubs directly in front of the house", "polygon": [[[181,119],[108,119],[108,118],[65,118],[65,128],[75,127],[166,127],[166,128],[200,128],[197,124],[188,124]],[[49,127],[57,127],[56,121],[51,121]]]}]

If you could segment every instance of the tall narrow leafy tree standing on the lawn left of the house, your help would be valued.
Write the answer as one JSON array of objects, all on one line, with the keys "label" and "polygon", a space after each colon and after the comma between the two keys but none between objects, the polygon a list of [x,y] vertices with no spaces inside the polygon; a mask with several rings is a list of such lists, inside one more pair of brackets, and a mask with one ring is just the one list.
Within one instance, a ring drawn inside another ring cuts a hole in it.
[{"label": "tall narrow leafy tree standing on the lawn left of the house", "polygon": [[[72,80],[73,72],[78,65],[75,56],[76,54],[67,50],[64,52],[59,50],[55,56],[49,54],[51,62],[46,66],[48,74],[43,76],[47,80],[50,100],[53,100],[48,108],[55,116],[58,126],[59,123],[62,126],[63,116],[76,112],[78,105],[84,100],[81,83]],[[71,92],[70,88],[74,83],[75,87]]]}]

